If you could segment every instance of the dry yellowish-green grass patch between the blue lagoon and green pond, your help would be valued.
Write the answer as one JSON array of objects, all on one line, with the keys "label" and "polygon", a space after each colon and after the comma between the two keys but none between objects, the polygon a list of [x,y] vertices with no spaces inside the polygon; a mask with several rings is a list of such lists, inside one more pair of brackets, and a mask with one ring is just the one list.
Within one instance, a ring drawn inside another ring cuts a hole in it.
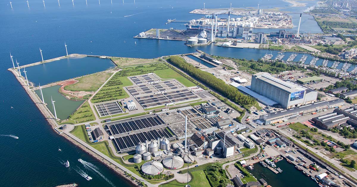
[{"label": "dry yellowish-green grass patch between the blue lagoon and green pond", "polygon": [[65,86],[65,90],[95,92],[110,77],[111,73],[101,72],[78,78],[77,83]]}]

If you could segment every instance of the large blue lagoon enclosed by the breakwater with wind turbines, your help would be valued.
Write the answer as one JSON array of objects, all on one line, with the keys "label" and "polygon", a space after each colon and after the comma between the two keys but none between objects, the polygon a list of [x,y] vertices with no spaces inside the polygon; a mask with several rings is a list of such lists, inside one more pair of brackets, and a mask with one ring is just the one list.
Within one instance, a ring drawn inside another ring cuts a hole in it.
[{"label": "large blue lagoon enclosed by the breakwater with wind turbines", "polygon": [[114,68],[110,59],[71,57],[25,68],[27,78],[38,86]]}]

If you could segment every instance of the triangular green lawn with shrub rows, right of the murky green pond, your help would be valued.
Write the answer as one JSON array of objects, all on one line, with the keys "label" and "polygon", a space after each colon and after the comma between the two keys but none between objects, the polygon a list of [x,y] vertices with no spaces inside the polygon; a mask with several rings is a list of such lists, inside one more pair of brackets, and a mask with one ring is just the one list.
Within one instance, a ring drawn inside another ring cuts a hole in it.
[{"label": "triangular green lawn with shrub rows, right of the murky green pond", "polygon": [[88,101],[86,101],[74,114],[70,115],[69,120],[72,120],[75,123],[94,121],[94,113],[90,108]]}]

